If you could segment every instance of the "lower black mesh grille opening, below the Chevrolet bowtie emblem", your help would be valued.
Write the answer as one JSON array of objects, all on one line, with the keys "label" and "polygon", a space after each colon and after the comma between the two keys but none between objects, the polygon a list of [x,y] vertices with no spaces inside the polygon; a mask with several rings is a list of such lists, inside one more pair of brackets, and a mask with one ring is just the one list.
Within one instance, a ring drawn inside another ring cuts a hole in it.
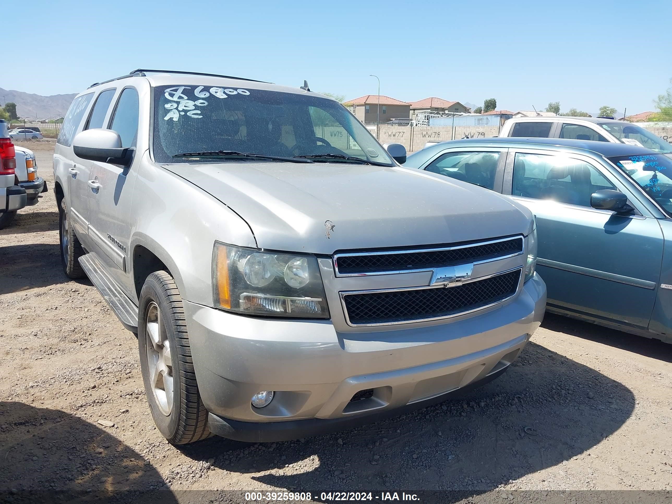
[{"label": "lower black mesh grille opening, below the Chevrolet bowtie emblem", "polygon": [[473,280],[454,287],[344,292],[350,325],[384,325],[454,317],[482,309],[513,296],[522,269]]}]

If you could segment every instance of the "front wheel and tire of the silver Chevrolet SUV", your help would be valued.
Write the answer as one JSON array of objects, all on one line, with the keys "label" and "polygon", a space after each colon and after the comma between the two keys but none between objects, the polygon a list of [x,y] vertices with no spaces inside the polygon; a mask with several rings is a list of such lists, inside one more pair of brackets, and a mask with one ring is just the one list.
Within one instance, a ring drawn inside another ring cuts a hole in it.
[{"label": "front wheel and tire of the silver Chevrolet SUV", "polygon": [[166,271],[150,274],[140,290],[138,349],[149,409],[163,436],[174,445],[210,437],[182,298]]}]

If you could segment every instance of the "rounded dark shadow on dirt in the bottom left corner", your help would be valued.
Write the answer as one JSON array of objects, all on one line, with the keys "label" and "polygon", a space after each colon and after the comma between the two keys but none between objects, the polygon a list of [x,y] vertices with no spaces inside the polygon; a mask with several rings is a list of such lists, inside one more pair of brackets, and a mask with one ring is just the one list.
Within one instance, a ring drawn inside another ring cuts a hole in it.
[{"label": "rounded dark shadow on dirt in the bottom left corner", "polygon": [[157,489],[162,502],[177,502],[159,472],[112,433],[19,402],[0,402],[0,473],[3,502],[146,502]]}]

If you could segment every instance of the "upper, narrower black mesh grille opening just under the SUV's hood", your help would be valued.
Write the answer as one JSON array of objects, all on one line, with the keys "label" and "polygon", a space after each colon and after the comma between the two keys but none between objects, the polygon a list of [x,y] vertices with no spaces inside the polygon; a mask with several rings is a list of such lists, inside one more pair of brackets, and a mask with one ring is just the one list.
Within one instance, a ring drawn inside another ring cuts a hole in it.
[{"label": "upper, narrower black mesh grille opening just under the SUV's hood", "polygon": [[346,253],[334,256],[338,276],[417,271],[508,257],[523,251],[522,237],[436,249]]}]

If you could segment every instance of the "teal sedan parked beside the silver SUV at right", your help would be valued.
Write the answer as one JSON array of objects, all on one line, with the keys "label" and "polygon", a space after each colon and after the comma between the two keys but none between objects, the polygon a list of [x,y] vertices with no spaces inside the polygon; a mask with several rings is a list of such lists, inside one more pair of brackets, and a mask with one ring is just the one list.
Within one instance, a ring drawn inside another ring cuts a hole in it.
[{"label": "teal sedan parked beside the silver SUV at right", "polygon": [[479,138],[429,146],[404,167],[530,208],[550,312],[672,343],[670,157],[610,142]]}]

